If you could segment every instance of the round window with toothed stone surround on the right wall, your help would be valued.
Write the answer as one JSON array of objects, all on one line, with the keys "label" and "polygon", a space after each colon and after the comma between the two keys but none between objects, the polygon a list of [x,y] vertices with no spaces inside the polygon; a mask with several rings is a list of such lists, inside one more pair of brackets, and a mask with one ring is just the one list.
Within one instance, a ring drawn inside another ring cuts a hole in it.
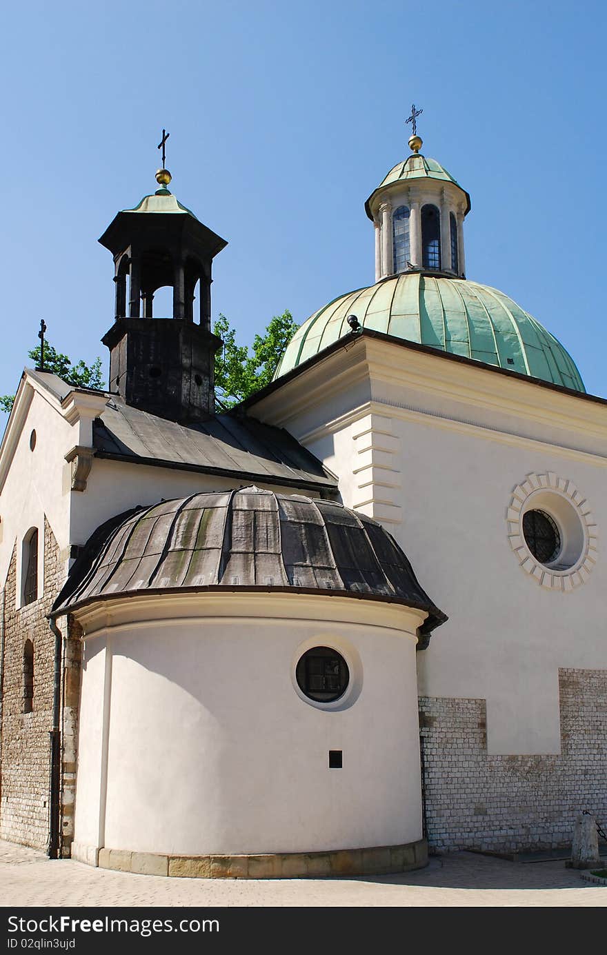
[{"label": "round window with toothed stone surround on the right wall", "polygon": [[530,474],[512,491],[509,543],[526,573],[551,590],[583,584],[595,566],[596,522],[587,499],[566,477]]}]

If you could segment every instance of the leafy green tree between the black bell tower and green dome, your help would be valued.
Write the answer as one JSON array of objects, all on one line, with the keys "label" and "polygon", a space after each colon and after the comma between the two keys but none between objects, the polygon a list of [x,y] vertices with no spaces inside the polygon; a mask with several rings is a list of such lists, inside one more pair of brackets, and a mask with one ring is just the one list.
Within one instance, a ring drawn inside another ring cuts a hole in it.
[{"label": "leafy green tree between the black bell tower and green dome", "polygon": [[236,331],[220,314],[213,331],[223,339],[224,347],[215,355],[215,395],[223,408],[244,401],[249,394],[270,384],[284,350],[298,329],[287,309],[274,315],[263,335],[255,335],[249,351],[238,345]]}]

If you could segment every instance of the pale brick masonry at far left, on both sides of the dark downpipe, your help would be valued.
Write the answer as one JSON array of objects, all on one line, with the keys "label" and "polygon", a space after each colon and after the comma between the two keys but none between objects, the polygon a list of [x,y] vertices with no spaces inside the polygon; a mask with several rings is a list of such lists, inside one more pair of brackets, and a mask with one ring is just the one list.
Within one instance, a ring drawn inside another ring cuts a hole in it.
[{"label": "pale brick masonry at far left, on both sides of the dark downpipe", "polygon": [[[64,581],[65,563],[47,520],[44,526],[44,590],[32,604],[16,606],[16,546],[4,589],[2,660],[2,763],[0,838],[46,849],[50,823],[50,737],[53,728],[54,634],[46,614]],[[80,641],[63,625],[67,637],[62,671],[61,819],[63,854],[72,838],[76,780],[76,713],[79,693]],[[23,648],[33,641],[33,711],[23,707]]]}]

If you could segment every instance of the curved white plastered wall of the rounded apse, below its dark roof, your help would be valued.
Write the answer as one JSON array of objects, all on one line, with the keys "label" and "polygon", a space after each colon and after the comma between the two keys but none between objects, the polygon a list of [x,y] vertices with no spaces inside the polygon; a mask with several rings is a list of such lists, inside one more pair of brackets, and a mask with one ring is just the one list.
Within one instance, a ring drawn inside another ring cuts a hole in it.
[{"label": "curved white plastered wall of the rounded apse, below its dark roof", "polygon": [[[265,854],[422,838],[423,616],[237,592],[82,612],[76,856],[94,860],[100,845]],[[296,661],[318,645],[351,668],[352,695],[335,711],[294,685]],[[342,769],[329,769],[329,750],[342,751]]]}]

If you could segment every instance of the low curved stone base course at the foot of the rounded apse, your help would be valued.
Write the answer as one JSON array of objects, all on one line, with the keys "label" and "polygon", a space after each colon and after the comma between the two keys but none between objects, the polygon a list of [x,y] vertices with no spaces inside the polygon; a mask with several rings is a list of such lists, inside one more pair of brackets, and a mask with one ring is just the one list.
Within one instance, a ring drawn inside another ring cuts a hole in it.
[{"label": "low curved stone base course at the foot of the rounded apse", "polygon": [[427,865],[426,840],[404,845],[332,852],[284,852],[267,856],[162,856],[123,849],[94,849],[72,845],[72,858],[100,869],[144,876],[186,879],[300,879],[325,876],[379,876]]}]

